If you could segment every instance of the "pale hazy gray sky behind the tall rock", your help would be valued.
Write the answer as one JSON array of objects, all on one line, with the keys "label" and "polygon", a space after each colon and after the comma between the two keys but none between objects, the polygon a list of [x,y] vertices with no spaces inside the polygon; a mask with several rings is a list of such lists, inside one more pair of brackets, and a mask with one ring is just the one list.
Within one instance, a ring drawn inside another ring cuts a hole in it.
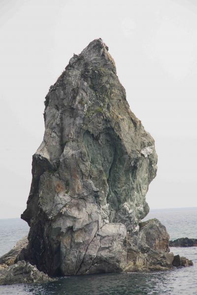
[{"label": "pale hazy gray sky behind the tall rock", "polygon": [[99,37],[156,142],[150,208],[197,207],[197,1],[0,0],[0,218],[26,208],[50,85]]}]

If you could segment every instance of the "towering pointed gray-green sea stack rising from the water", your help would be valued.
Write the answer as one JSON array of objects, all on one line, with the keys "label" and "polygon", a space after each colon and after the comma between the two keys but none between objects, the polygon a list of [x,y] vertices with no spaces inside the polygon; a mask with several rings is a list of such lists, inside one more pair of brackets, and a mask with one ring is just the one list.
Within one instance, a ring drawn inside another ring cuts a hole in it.
[{"label": "towering pointed gray-green sea stack rising from the water", "polygon": [[51,276],[172,267],[169,236],[145,195],[157,172],[154,140],[134,116],[101,39],[74,55],[45,100],[22,214],[21,259]]}]

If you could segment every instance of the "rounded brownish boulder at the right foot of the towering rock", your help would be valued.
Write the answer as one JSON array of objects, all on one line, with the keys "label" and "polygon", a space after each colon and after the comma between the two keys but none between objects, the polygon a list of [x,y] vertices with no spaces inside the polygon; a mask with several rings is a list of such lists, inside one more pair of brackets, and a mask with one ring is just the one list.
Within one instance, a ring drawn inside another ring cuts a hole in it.
[{"label": "rounded brownish boulder at the right foot of the towering rock", "polygon": [[169,235],[156,218],[139,223],[139,232],[127,236],[126,271],[164,270],[172,267]]}]

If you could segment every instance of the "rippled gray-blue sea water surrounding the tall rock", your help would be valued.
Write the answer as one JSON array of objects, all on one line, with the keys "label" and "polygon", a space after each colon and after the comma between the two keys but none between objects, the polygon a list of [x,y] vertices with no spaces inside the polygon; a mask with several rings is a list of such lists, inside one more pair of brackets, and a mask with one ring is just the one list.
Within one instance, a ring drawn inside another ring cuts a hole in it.
[{"label": "rippled gray-blue sea water surrounding the tall rock", "polygon": [[[145,220],[158,218],[170,238],[197,238],[197,208],[151,210]],[[0,255],[28,233],[27,224],[0,219]],[[0,295],[197,295],[197,247],[170,248],[192,259],[194,266],[147,273],[108,273],[60,278],[47,284],[0,286]]]}]

